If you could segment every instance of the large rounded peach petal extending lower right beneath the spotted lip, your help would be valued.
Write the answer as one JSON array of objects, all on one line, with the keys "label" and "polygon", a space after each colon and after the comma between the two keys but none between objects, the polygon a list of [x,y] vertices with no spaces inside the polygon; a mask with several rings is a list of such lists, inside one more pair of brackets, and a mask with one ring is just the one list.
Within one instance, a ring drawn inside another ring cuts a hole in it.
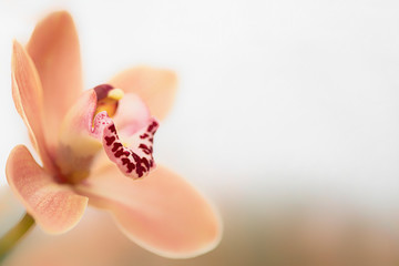
[{"label": "large rounded peach petal extending lower right beneath the spotted lip", "polygon": [[96,207],[109,209],[139,245],[166,257],[192,257],[215,247],[221,221],[209,203],[177,174],[158,166],[140,181],[115,166],[76,187]]}]

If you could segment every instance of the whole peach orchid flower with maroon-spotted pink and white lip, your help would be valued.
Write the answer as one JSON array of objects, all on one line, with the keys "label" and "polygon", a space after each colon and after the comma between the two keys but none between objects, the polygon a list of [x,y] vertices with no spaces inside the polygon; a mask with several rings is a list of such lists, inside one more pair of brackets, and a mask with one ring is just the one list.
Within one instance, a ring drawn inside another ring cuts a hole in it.
[{"label": "whole peach orchid flower with maroon-spotted pink and white lip", "polygon": [[71,229],[89,204],[162,256],[216,246],[222,229],[212,204],[153,156],[175,93],[173,72],[133,68],[82,91],[78,34],[65,11],[42,20],[25,47],[14,41],[11,68],[13,101],[42,165],[18,145],[7,180],[44,232]]}]

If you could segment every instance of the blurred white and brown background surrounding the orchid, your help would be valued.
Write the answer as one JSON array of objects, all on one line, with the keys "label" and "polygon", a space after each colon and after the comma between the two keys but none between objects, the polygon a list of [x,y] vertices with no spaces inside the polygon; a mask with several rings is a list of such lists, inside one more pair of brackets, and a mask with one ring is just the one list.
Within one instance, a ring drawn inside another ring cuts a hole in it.
[{"label": "blurred white and brown background surrounding the orchid", "polygon": [[[88,89],[135,64],[178,73],[155,155],[213,198],[225,235],[207,255],[171,260],[127,242],[91,209],[64,236],[35,229],[16,257],[398,265],[398,1],[2,0],[2,168],[10,150],[28,143],[11,100],[11,41],[28,41],[35,22],[58,9],[75,19]],[[7,206],[0,209],[12,215],[0,216],[1,229],[18,219]]]}]

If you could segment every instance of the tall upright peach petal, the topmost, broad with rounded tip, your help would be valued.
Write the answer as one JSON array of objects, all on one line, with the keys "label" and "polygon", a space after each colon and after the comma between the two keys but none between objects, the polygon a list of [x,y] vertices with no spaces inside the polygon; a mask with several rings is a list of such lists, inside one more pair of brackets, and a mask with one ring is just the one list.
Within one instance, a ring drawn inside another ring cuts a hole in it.
[{"label": "tall upright peach petal, the topmost, broad with rounded tip", "polygon": [[27,51],[42,82],[45,137],[53,149],[62,117],[83,88],[79,40],[71,16],[53,12],[39,22]]}]

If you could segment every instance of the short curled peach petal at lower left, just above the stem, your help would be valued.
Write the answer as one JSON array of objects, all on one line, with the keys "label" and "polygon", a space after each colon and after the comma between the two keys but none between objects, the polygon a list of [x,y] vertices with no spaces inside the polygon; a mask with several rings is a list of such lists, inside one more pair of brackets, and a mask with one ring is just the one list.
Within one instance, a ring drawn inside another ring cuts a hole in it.
[{"label": "short curled peach petal at lower left, just above the stem", "polygon": [[63,233],[81,219],[88,198],[55,183],[25,146],[18,145],[11,151],[6,174],[11,190],[43,231]]}]

